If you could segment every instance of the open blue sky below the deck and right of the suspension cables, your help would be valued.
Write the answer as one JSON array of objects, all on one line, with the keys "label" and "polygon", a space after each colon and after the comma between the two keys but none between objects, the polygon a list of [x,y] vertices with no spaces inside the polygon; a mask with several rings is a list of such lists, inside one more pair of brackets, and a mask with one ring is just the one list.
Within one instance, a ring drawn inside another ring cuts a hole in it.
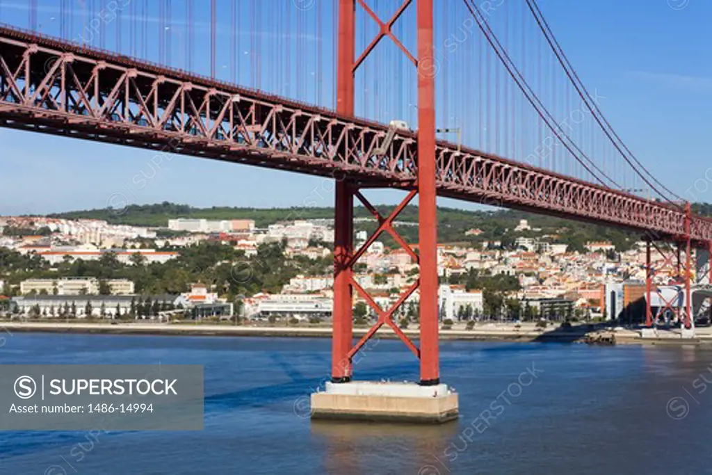
[{"label": "open blue sky below the deck and right of the suspension cables", "polygon": [[[0,0],[0,21],[22,24],[27,16],[22,8],[27,3]],[[51,16],[51,4],[58,2],[39,3],[42,18]],[[387,9],[385,0],[380,3]],[[43,11],[43,4],[49,5],[48,9]],[[712,2],[540,0],[540,5],[580,77],[604,97],[602,110],[637,157],[681,197],[712,202],[712,170],[707,172],[712,167],[708,155],[712,145],[708,107],[712,102],[708,51],[712,44],[708,24]],[[328,9],[323,13],[330,18]],[[456,24],[456,19],[449,20],[449,26]],[[229,34],[221,32],[219,41],[229,41]],[[205,31],[198,33],[201,38],[204,35]],[[283,41],[293,39],[286,37]],[[311,40],[301,41],[307,44]],[[247,48],[243,45],[240,50]],[[179,49],[174,45],[174,51]],[[327,46],[322,51],[330,56]],[[243,54],[242,58],[251,57]],[[308,59],[315,61],[315,57]],[[195,61],[201,60],[205,58]],[[330,64],[323,61],[323,71],[327,71]],[[276,73],[278,66],[263,68],[263,74],[270,74]],[[309,69],[303,66],[294,75],[311,75]],[[328,83],[328,75],[323,74],[324,83]],[[372,68],[370,74],[375,78],[372,83],[388,81],[383,71]],[[241,73],[239,82],[249,80],[249,74]],[[307,96],[331,95],[326,85],[317,91],[305,85],[308,81],[301,81],[301,86],[286,87],[300,87],[295,93]],[[402,110],[409,107],[404,98],[399,98],[401,104],[397,106]],[[171,201],[199,207],[333,205],[333,183],[318,177],[180,156],[165,157],[156,169],[150,163],[152,156],[143,150],[0,129],[0,214],[120,206],[125,200],[131,204]],[[145,177],[145,186],[136,184],[137,176]],[[388,203],[400,196],[389,191],[368,195],[374,202]],[[439,204],[475,206],[447,199]]]}]

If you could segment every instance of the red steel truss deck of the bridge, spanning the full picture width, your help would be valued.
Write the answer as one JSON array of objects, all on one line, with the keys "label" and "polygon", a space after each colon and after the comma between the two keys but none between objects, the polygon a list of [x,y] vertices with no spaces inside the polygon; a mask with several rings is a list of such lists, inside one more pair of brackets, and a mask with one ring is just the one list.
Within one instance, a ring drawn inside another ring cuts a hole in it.
[{"label": "red steel truss deck of the bridge, spanning the full picture width", "polygon": [[[417,135],[124,56],[0,28],[0,126],[412,189]],[[684,239],[682,207],[437,145],[444,197]],[[691,219],[691,238],[712,221]]]}]

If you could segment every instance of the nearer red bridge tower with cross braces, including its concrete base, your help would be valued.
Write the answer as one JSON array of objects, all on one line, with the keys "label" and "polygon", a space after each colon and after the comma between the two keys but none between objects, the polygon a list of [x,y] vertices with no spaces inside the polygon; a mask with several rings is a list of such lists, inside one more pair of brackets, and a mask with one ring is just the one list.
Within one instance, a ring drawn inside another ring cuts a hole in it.
[{"label": "nearer red bridge tower with cross braces, including its concrete base", "polygon": [[[404,47],[392,31],[393,24],[410,4],[417,4],[417,58]],[[355,9],[360,6],[380,26],[379,33],[358,58],[355,56]],[[438,272],[436,216],[436,127],[435,75],[433,45],[433,0],[403,0],[396,13],[384,23],[365,0],[340,0],[337,64],[337,113],[354,115],[354,75],[362,62],[384,38],[403,51],[418,69],[417,181],[407,196],[388,215],[382,216],[359,191],[360,186],[347,179],[337,180],[335,198],[334,308],[332,378],[325,393],[312,396],[314,417],[402,417],[449,420],[457,415],[457,395],[440,382],[438,351]],[[365,186],[368,186],[365,184]],[[419,246],[416,253],[399,236],[392,223],[404,207],[418,195]],[[355,250],[353,246],[353,204],[356,197],[379,222],[375,233]],[[353,277],[353,266],[380,234],[387,232],[419,264],[420,276],[384,309]],[[419,289],[419,346],[405,335],[392,315]],[[353,345],[352,291],[356,291],[378,315],[377,322]],[[352,357],[372,338],[382,325],[388,325],[420,360],[419,385],[352,381]],[[367,398],[367,401],[364,400]],[[364,409],[366,408],[366,409]],[[399,408],[399,409],[394,409]]]}]

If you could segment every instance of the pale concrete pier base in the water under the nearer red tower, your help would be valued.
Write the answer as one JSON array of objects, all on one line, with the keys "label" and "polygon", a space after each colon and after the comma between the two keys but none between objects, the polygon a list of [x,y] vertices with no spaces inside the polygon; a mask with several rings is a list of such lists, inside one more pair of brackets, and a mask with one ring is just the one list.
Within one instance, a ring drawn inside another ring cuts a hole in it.
[{"label": "pale concrete pier base in the water under the nearer red tower", "polygon": [[324,392],[311,395],[311,414],[312,419],[439,424],[457,419],[458,398],[445,384],[327,382]]}]

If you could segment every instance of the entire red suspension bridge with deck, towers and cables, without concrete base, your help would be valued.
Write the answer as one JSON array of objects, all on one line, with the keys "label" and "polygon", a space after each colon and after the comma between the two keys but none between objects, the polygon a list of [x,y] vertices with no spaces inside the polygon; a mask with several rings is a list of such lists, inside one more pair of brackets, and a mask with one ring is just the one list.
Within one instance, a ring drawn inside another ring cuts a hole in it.
[{"label": "entire red suspension bridge with deck, towers and cables, without concrete base", "polygon": [[[534,0],[4,3],[0,126],[335,179],[335,382],[382,325],[419,357],[422,385],[439,382],[436,196],[667,243],[691,323],[691,256],[709,251],[712,221],[622,142]],[[363,194],[377,187],[406,197],[384,216]],[[417,251],[392,226],[416,196]],[[360,249],[354,199],[379,221]],[[389,309],[352,276],[384,232],[420,267]],[[660,269],[648,257],[646,270],[650,303]],[[416,290],[419,345],[392,320]],[[354,291],[379,315],[356,345]]]}]

